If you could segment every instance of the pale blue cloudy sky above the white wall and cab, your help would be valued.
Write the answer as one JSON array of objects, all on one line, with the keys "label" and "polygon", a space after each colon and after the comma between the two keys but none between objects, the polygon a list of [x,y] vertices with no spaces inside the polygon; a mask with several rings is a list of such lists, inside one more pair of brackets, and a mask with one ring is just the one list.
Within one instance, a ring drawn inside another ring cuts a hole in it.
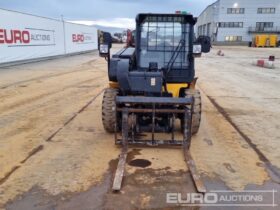
[{"label": "pale blue cloudy sky above the white wall and cab", "polygon": [[131,27],[137,13],[173,13],[195,16],[215,0],[0,0],[0,8],[45,17],[105,26]]}]

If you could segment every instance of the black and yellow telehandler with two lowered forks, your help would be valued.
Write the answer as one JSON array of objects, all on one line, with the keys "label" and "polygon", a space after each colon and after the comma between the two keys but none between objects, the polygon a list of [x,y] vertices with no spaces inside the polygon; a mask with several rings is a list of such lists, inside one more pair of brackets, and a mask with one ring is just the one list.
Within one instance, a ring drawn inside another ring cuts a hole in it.
[{"label": "black and yellow telehandler with two lowered forks", "polygon": [[[195,23],[190,14],[139,14],[135,48],[124,48],[111,57],[110,41],[100,43],[99,53],[108,61],[109,75],[102,103],[103,125],[122,146],[114,191],[121,189],[129,145],[182,146],[197,190],[206,191],[189,147],[201,119],[194,59],[211,46],[208,37],[195,40]],[[174,139],[175,119],[181,121],[183,140]],[[143,132],[150,132],[151,139],[139,138]],[[160,132],[170,133],[170,139],[156,139]]]}]

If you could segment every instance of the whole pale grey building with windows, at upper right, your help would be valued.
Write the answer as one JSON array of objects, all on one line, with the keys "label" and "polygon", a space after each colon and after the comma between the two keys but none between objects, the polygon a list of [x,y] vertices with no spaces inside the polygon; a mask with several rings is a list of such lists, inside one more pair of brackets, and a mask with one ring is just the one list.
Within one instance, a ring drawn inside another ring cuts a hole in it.
[{"label": "whole pale grey building with windows, at upper right", "polygon": [[198,17],[196,34],[216,43],[248,43],[256,34],[280,34],[280,0],[218,0]]}]

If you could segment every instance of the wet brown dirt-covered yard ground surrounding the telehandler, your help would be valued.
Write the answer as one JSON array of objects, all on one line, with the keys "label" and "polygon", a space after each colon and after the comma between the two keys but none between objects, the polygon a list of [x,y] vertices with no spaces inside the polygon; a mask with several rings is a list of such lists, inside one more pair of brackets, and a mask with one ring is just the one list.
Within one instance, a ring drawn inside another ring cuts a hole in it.
[{"label": "wet brown dirt-covered yard ground surrounding the telehandler", "polygon": [[[252,65],[269,55],[275,69]],[[274,189],[279,204],[280,49],[214,47],[196,74],[191,153],[207,189]],[[123,189],[111,192],[120,150],[101,122],[107,85],[97,53],[0,69],[0,209],[210,209],[166,204],[168,192],[195,192],[180,149],[130,149]]]}]

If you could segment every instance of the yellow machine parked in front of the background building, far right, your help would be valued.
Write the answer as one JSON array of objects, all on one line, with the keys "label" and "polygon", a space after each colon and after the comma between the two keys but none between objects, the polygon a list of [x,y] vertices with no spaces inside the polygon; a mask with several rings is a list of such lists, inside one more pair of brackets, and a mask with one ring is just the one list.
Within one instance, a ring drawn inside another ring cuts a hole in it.
[{"label": "yellow machine parked in front of the background building, far right", "polygon": [[277,35],[256,35],[253,38],[253,47],[277,47],[278,36]]}]

